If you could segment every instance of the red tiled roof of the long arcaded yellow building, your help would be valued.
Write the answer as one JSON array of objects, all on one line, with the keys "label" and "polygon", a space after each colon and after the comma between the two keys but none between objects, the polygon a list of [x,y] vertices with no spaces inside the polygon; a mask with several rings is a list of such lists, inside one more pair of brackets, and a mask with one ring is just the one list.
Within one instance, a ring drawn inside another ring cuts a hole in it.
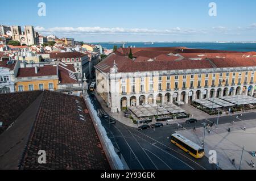
[{"label": "red tiled roof of the long arcaded yellow building", "polygon": [[[127,53],[133,52],[133,60]],[[110,72],[114,61],[118,72],[160,71],[236,68],[256,66],[256,57],[246,56],[254,52],[233,52],[222,50],[171,48],[119,48],[96,66],[104,72]]]}]

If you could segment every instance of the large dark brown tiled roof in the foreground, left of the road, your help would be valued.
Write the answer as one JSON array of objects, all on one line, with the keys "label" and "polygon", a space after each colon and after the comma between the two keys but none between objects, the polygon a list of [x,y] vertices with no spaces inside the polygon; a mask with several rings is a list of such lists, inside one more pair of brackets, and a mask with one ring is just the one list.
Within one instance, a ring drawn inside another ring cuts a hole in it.
[{"label": "large dark brown tiled roof in the foreground, left of the road", "polygon": [[[15,94],[5,95],[6,99]],[[39,150],[46,151],[46,164],[38,163]],[[110,166],[84,100],[40,91],[13,126],[0,135],[0,169],[109,170]]]}]

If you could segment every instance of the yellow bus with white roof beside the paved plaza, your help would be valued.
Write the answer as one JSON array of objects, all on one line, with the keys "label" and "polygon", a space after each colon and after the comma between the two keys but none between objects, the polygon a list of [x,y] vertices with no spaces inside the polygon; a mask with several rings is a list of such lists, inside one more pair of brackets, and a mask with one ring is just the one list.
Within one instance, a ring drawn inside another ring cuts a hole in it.
[{"label": "yellow bus with white roof beside the paved plaza", "polygon": [[187,154],[192,155],[192,157],[204,157],[204,149],[201,146],[195,144],[180,134],[172,134],[171,142],[178,146],[180,149],[184,150]]}]

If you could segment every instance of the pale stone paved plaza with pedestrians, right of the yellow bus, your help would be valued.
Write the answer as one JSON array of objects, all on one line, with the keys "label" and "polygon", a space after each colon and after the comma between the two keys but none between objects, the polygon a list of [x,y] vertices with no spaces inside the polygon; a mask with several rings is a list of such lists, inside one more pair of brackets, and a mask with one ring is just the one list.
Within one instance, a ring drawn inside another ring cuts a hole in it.
[{"label": "pale stone paved plaza with pedestrians, right of the yellow bus", "polygon": [[[246,131],[243,127],[246,126]],[[228,132],[231,128],[231,132]],[[217,162],[220,163],[221,169],[238,170],[240,167],[242,148],[244,146],[241,170],[253,169],[250,166],[252,160],[256,163],[256,157],[252,157],[251,151],[256,150],[256,119],[238,121],[232,125],[231,123],[220,124],[218,128],[211,128],[212,132],[205,132],[205,156],[209,158],[209,150],[217,151]],[[178,131],[177,133],[189,138],[189,140],[201,145],[203,140],[204,128],[196,128]],[[235,159],[235,165],[232,165],[232,159]],[[254,167],[256,170],[256,167]]]}]

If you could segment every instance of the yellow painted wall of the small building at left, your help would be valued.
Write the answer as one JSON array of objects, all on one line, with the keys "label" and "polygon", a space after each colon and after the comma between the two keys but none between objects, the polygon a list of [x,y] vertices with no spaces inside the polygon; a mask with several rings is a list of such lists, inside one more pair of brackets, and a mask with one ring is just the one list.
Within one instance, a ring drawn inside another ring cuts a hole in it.
[{"label": "yellow painted wall of the small building at left", "polygon": [[19,86],[23,85],[23,91],[29,91],[28,85],[34,85],[34,90],[39,90],[39,84],[43,83],[44,90],[48,90],[48,83],[53,83],[53,89],[57,90],[57,85],[59,83],[58,79],[52,80],[42,80],[42,81],[27,81],[27,82],[16,82],[16,91],[19,91]]}]

